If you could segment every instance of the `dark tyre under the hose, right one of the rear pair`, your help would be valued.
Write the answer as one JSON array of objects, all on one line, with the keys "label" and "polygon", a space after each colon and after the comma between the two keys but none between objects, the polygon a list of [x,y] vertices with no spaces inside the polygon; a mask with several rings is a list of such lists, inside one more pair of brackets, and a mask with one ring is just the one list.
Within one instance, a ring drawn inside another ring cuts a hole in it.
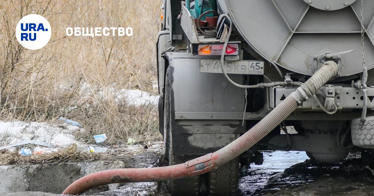
[{"label": "dark tyre under the hose, right one of the rear pair", "polygon": [[239,157],[208,173],[209,196],[235,195],[239,181]]}]

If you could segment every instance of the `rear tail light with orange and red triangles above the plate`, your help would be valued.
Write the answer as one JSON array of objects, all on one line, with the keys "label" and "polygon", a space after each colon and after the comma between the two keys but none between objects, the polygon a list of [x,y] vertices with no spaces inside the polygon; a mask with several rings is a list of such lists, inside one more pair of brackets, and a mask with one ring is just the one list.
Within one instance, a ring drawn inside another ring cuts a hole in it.
[{"label": "rear tail light with orange and red triangles above the plate", "polygon": [[[197,53],[199,55],[221,55],[223,44],[199,44]],[[238,44],[227,44],[225,55],[239,54]]]}]

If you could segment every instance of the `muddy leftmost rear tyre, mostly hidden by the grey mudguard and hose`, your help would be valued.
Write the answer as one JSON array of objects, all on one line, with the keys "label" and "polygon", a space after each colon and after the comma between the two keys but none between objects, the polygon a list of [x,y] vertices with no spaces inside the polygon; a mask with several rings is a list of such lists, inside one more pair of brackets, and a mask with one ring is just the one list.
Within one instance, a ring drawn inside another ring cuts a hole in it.
[{"label": "muddy leftmost rear tyre, mostly hidden by the grey mudguard and hose", "polygon": [[[164,99],[164,155],[168,159],[169,165],[185,163],[199,156],[173,155],[171,126],[174,124],[174,115],[171,110],[172,99],[170,81],[166,75],[165,99]],[[197,196],[200,190],[200,176],[169,180],[168,187],[172,196]]]}]

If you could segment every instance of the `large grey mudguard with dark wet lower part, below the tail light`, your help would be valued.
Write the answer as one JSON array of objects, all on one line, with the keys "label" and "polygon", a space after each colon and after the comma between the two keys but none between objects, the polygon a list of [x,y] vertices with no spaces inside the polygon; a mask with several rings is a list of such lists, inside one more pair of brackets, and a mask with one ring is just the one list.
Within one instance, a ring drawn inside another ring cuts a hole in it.
[{"label": "large grey mudguard with dark wet lower part, below the tail light", "polygon": [[[176,119],[175,112],[190,115],[198,112],[243,112],[245,91],[230,84],[223,74],[200,72],[201,59],[216,57],[192,56],[190,53],[167,52],[169,66],[165,84],[170,85],[172,152],[174,155],[203,155],[214,152],[244,133],[240,120]],[[232,80],[243,82],[243,76],[233,74]]]}]

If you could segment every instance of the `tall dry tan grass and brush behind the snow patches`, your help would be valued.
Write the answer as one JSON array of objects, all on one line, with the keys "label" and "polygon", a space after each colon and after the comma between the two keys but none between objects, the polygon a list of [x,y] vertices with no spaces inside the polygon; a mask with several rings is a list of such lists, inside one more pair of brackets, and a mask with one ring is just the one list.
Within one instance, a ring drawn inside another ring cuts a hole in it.
[{"label": "tall dry tan grass and brush behind the snow patches", "polygon": [[[0,119],[76,120],[92,134],[112,141],[151,140],[157,113],[148,105],[115,101],[109,87],[156,93],[155,41],[160,1],[4,0],[0,4]],[[19,45],[15,27],[28,14],[44,16],[52,27],[39,50]],[[67,27],[132,27],[128,36],[70,36]],[[89,90],[82,90],[88,84]],[[102,99],[102,95],[105,99]],[[84,99],[83,99],[84,97]],[[72,107],[76,109],[71,109]]]}]

